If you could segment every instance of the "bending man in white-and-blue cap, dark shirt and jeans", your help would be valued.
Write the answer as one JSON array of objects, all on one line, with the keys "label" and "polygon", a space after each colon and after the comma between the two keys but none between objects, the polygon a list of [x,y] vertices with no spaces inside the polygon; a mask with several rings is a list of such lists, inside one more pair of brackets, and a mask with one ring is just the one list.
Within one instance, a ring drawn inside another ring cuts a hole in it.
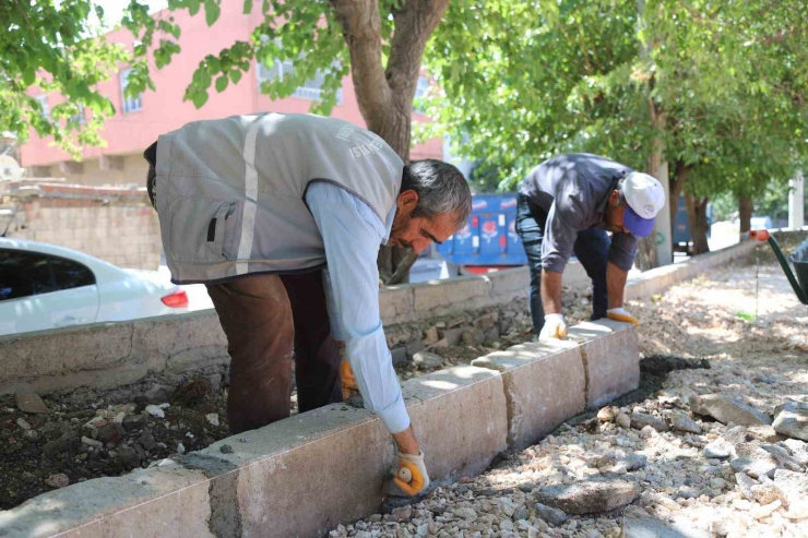
[{"label": "bending man in white-and-blue cap, dark shirt and jeans", "polygon": [[567,336],[561,275],[573,252],[592,279],[592,319],[638,323],[622,308],[623,288],[638,238],[651,234],[664,205],[665,190],[656,179],[597,155],[560,155],[525,176],[516,231],[531,270],[530,307],[538,339]]}]

